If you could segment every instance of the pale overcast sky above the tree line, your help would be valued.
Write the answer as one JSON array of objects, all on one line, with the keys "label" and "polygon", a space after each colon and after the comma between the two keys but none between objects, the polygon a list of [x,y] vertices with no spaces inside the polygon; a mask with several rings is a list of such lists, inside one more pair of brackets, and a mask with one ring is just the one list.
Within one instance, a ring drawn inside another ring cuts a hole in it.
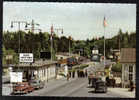
[{"label": "pale overcast sky above the tree line", "polygon": [[[107,26],[103,27],[104,16]],[[3,31],[17,31],[18,25],[11,28],[11,21],[27,21],[40,24],[36,28],[50,32],[63,28],[60,36],[72,36],[75,40],[86,40],[104,36],[111,38],[123,32],[136,31],[136,4],[113,3],[56,3],[56,2],[4,2]],[[25,30],[21,24],[21,30]],[[35,31],[37,33],[37,30]]]}]

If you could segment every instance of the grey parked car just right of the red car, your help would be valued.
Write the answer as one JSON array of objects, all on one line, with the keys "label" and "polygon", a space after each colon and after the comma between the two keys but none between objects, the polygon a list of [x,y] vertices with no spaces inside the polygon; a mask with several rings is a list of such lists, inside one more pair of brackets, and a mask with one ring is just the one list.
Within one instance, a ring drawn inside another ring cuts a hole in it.
[{"label": "grey parked car just right of the red car", "polygon": [[30,81],[30,85],[32,87],[34,87],[35,89],[41,89],[41,88],[44,88],[44,85],[45,85],[45,82],[44,81],[41,81],[41,80],[31,80]]}]

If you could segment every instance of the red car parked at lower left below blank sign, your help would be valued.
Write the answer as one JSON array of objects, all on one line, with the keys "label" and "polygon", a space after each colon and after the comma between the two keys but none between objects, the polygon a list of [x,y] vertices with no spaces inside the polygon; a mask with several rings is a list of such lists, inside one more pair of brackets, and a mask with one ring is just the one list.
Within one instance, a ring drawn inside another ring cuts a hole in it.
[{"label": "red car parked at lower left below blank sign", "polygon": [[34,88],[28,82],[17,83],[13,88],[13,94],[26,94],[32,91],[34,91]]}]

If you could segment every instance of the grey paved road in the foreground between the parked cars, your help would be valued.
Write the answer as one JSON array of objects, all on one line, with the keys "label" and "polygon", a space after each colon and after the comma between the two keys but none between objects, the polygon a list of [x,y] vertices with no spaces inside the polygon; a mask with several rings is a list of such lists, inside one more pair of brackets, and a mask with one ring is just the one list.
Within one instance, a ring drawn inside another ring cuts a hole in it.
[{"label": "grey paved road in the foreground between the parked cars", "polygon": [[[63,82],[65,82],[63,80]],[[58,83],[60,84],[60,83]],[[56,88],[44,89],[34,91],[27,96],[66,96],[66,97],[124,97],[124,95],[115,94],[112,91],[107,93],[94,93],[93,88],[88,87],[87,78],[76,78],[72,81],[66,82],[65,84],[59,85]]]}]

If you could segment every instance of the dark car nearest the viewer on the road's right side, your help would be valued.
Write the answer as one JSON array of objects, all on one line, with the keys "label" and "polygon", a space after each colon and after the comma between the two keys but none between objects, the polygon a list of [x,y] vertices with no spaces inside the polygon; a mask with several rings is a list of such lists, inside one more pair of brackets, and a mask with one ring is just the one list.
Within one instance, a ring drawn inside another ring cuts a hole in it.
[{"label": "dark car nearest the viewer on the road's right side", "polygon": [[104,93],[107,92],[107,85],[106,85],[105,81],[102,81],[102,80],[96,81],[95,93],[97,93],[97,92],[104,92]]}]

